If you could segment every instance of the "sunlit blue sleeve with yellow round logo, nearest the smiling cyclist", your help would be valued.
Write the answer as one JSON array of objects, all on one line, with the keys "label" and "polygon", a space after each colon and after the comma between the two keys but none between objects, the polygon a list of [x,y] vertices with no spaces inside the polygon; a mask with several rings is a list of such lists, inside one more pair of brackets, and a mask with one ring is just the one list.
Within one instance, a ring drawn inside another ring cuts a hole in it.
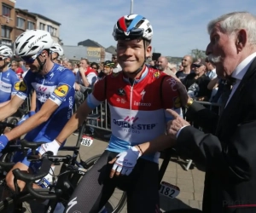
[{"label": "sunlit blue sleeve with yellow round logo, nearest the smiling cyclist", "polygon": [[56,89],[49,96],[49,100],[54,101],[58,106],[60,106],[61,103],[66,100],[67,96],[74,95],[75,82],[73,72],[70,72],[70,70],[66,69],[60,73],[61,74],[59,76]]}]

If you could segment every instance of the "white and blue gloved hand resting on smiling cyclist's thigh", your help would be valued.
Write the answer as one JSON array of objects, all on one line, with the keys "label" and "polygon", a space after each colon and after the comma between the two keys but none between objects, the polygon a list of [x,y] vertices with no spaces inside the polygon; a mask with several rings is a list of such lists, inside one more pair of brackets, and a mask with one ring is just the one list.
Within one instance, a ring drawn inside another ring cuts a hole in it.
[{"label": "white and blue gloved hand resting on smiling cyclist's thigh", "polygon": [[114,174],[119,176],[119,173],[129,176],[137,163],[137,158],[140,158],[141,156],[142,153],[140,153],[136,147],[131,147],[125,152],[119,153],[116,158],[113,158],[113,160],[109,162],[109,164],[113,164],[113,162],[115,162],[113,164],[110,177],[113,177]]}]

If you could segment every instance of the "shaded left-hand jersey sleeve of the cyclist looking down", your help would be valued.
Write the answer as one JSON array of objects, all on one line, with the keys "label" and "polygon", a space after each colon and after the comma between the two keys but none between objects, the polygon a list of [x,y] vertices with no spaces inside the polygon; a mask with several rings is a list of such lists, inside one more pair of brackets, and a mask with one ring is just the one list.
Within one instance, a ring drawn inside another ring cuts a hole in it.
[{"label": "shaded left-hand jersey sleeve of the cyclist looking down", "polygon": [[25,78],[21,82],[15,83],[16,90],[19,90],[16,95],[25,100],[32,90],[32,79],[35,75],[32,72],[27,72]]}]

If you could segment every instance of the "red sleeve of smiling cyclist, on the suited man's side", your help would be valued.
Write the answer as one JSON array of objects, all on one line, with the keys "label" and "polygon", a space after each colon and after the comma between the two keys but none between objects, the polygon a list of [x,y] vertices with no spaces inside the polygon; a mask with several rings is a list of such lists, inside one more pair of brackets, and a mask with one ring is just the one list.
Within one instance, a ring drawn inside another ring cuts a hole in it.
[{"label": "red sleeve of smiling cyclist, on the suited man's side", "polygon": [[[162,88],[162,103],[164,109],[172,109],[177,114],[179,114],[181,117],[183,117],[183,111],[180,101],[180,96],[177,90],[177,81],[175,78],[172,77],[166,77],[163,80]],[[168,112],[165,112],[166,115],[166,122],[169,120],[172,120],[172,115],[170,115]]]}]

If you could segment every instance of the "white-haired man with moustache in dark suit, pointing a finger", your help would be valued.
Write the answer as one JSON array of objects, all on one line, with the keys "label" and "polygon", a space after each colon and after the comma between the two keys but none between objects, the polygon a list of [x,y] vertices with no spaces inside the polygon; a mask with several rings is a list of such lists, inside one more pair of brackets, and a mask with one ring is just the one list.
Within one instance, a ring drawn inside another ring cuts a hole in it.
[{"label": "white-haired man with moustache in dark suit, pointing a finger", "polygon": [[[169,144],[148,141],[139,147],[144,154],[176,145],[179,152],[206,165],[204,213],[256,212],[255,26],[255,16],[246,12],[224,14],[208,25],[209,59],[218,77],[235,79],[220,117],[188,101],[187,117],[212,134],[196,130],[168,110],[174,117],[166,131]],[[125,158],[127,164],[132,160],[132,155]]]}]

